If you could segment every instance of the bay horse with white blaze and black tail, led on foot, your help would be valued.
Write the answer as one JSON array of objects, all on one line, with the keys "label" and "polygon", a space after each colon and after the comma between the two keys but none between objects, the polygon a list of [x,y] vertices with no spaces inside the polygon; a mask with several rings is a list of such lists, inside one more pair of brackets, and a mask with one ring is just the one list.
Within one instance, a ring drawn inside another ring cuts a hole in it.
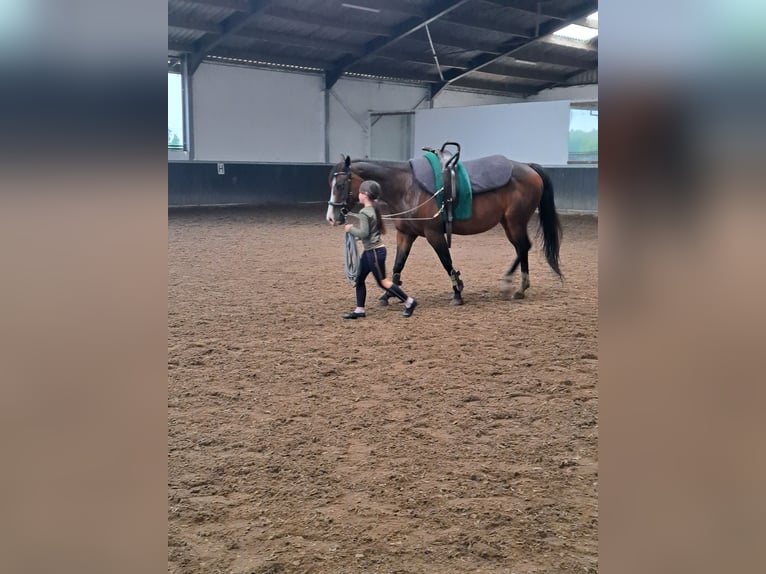
[{"label": "bay horse with white blaze and black tail, led on foot", "polygon": [[[532,242],[527,233],[527,224],[535,208],[539,212],[545,258],[559,277],[561,223],[553,201],[553,183],[543,168],[535,163],[521,163],[502,156],[497,157],[510,163],[510,180],[500,187],[473,194],[470,219],[453,221],[452,232],[457,235],[474,235],[488,231],[498,223],[501,224],[508,240],[516,249],[516,260],[503,276],[503,280],[505,287],[509,289],[511,276],[521,265],[521,282],[513,297],[522,299],[530,286],[528,253]],[[389,213],[383,217],[386,222],[393,221],[396,227],[396,259],[392,280],[401,285],[401,273],[412,244],[418,237],[425,237],[450,276],[452,304],[462,305],[463,282],[460,272],[452,265],[442,210],[437,205],[434,195],[427,193],[415,179],[409,162],[352,160],[344,156],[343,161],[337,163],[330,172],[327,221],[331,225],[341,225],[345,222],[346,213],[358,202],[359,185],[367,179],[373,179],[380,184],[380,199],[388,207],[383,213]],[[445,182],[445,187],[446,185]],[[388,296],[381,297],[380,303],[387,305]]]}]

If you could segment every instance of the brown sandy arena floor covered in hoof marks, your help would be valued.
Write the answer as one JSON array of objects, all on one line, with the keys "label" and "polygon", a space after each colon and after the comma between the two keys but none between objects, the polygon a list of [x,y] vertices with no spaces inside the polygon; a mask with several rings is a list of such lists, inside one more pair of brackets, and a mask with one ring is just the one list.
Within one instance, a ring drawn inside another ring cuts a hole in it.
[{"label": "brown sandy arena floor covered in hoof marks", "polygon": [[564,283],[532,236],[521,301],[500,226],[453,238],[462,307],[418,239],[415,314],[370,277],[348,321],[324,210],[169,215],[168,571],[596,572],[597,220],[562,216]]}]

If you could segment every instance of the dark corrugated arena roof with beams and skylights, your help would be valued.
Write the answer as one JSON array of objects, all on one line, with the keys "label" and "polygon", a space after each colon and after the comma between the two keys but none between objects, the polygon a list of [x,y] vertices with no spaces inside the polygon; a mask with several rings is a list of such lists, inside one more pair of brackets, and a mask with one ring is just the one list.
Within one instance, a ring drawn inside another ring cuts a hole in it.
[{"label": "dark corrugated arena roof with beams and skylights", "polygon": [[225,58],[316,69],[326,87],[345,74],[426,82],[432,94],[531,95],[598,81],[597,38],[550,36],[597,10],[597,0],[169,0],[168,50],[192,72]]}]

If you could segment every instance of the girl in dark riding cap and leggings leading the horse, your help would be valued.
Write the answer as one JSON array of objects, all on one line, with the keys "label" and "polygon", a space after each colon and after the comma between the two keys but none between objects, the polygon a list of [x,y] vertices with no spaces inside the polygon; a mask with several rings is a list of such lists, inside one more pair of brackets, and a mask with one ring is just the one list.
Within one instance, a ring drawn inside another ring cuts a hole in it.
[{"label": "girl in dark riding cap and leggings leading the horse", "polygon": [[409,317],[415,311],[417,301],[409,297],[402,288],[386,279],[386,246],[380,236],[386,232],[383,218],[375,202],[380,197],[380,185],[377,181],[366,180],[359,186],[359,201],[364,205],[359,212],[358,227],[347,223],[343,228],[357,239],[361,239],[364,252],[359,258],[359,272],[356,277],[356,309],[344,313],[344,319],[366,317],[364,303],[367,299],[367,275],[372,273],[375,282],[390,295],[404,301],[402,317]]}]

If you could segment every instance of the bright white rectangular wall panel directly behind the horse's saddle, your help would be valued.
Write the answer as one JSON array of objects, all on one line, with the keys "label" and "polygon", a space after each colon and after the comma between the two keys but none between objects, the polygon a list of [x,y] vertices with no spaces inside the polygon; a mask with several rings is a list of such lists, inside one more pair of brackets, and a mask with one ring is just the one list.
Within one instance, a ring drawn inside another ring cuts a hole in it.
[{"label": "bright white rectangular wall panel directly behind the horse's saddle", "polygon": [[533,102],[418,110],[415,149],[460,144],[463,160],[501,154],[513,160],[566,165],[569,102]]}]

